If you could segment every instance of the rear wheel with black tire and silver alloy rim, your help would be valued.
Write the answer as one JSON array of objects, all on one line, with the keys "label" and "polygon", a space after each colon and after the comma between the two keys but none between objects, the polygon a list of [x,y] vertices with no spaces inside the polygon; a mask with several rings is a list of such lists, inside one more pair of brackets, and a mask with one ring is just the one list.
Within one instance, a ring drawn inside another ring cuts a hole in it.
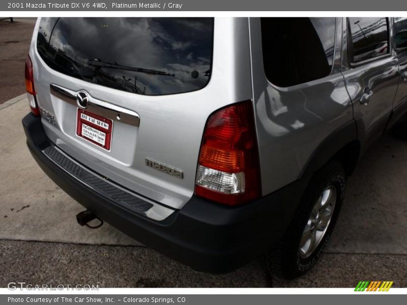
[{"label": "rear wheel with black tire and silver alloy rim", "polygon": [[284,238],[266,257],[266,266],[273,274],[294,279],[316,263],[338,218],[345,177],[338,161],[313,175]]}]

